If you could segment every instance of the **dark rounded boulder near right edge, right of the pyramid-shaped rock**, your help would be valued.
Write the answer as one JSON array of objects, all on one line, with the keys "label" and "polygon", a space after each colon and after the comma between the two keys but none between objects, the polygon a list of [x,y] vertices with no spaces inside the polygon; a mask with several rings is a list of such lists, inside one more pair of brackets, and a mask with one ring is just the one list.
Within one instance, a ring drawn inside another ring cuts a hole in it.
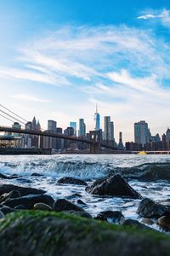
[{"label": "dark rounded boulder near right edge, right of the pyramid-shaped rock", "polygon": [[161,217],[167,212],[167,207],[152,201],[149,198],[144,198],[140,203],[137,213],[144,218]]}]

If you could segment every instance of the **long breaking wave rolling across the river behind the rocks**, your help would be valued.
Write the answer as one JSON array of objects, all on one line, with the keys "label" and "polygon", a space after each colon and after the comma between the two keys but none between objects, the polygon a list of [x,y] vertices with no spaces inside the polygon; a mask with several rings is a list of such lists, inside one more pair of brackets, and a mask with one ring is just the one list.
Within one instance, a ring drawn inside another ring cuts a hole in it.
[{"label": "long breaking wave rolling across the river behind the rocks", "polygon": [[79,177],[84,180],[119,173],[122,177],[139,181],[170,180],[170,162],[144,163],[139,166],[120,167],[111,163],[88,162],[86,160],[26,160],[0,162],[0,172],[26,174],[37,172],[52,177]]}]

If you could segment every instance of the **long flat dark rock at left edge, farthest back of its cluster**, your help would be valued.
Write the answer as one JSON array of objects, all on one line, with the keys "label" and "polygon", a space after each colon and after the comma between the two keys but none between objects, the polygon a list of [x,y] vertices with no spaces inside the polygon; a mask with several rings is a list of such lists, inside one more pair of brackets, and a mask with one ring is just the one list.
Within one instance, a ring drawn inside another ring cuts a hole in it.
[{"label": "long flat dark rock at left edge, farthest back of its cluster", "polygon": [[3,195],[4,193],[9,193],[12,190],[17,190],[20,192],[20,195],[39,195],[39,194],[45,194],[46,191],[42,189],[32,189],[32,188],[26,188],[26,187],[20,187],[20,186],[15,186],[12,184],[3,184],[0,185],[0,195]]}]

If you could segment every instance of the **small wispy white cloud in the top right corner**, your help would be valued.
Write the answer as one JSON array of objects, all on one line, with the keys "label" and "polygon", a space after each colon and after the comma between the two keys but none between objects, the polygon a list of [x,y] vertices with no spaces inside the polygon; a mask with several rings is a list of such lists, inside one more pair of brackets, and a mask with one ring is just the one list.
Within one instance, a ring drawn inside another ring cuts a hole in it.
[{"label": "small wispy white cloud in the top right corner", "polygon": [[139,20],[160,20],[163,26],[170,27],[170,10],[152,10],[150,14],[137,17]]}]

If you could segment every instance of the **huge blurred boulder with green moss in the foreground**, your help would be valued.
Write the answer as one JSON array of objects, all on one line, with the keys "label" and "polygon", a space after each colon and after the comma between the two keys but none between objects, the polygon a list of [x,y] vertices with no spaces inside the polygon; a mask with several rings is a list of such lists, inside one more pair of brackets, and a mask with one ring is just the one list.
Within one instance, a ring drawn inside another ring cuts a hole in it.
[{"label": "huge blurred boulder with green moss in the foreground", "polygon": [[62,212],[13,212],[0,222],[3,256],[170,255],[170,236]]}]

